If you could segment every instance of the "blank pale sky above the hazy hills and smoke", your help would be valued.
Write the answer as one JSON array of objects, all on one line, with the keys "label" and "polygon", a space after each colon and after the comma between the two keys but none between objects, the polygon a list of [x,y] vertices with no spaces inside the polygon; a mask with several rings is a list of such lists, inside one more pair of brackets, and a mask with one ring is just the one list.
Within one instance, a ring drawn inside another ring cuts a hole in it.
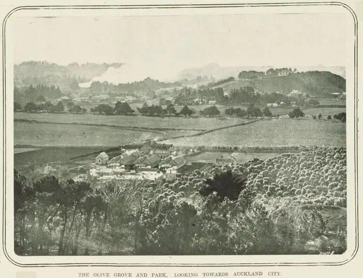
[{"label": "blank pale sky above the hazy hills and smoke", "polygon": [[220,66],[345,66],[344,14],[23,17],[14,62],[125,62],[165,80]]}]

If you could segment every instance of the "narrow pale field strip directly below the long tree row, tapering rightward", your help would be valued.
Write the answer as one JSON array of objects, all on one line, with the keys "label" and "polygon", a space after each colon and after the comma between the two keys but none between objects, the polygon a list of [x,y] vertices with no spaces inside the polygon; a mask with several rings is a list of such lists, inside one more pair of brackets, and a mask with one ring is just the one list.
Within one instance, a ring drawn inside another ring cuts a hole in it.
[{"label": "narrow pale field strip directly below the long tree row, tapering rightward", "polygon": [[93,115],[93,114],[50,114],[50,113],[14,113],[15,120],[30,120],[51,123],[106,124],[128,127],[147,127],[159,129],[208,130],[226,125],[246,123],[241,118],[202,118],[202,117],[147,117],[123,115]]}]

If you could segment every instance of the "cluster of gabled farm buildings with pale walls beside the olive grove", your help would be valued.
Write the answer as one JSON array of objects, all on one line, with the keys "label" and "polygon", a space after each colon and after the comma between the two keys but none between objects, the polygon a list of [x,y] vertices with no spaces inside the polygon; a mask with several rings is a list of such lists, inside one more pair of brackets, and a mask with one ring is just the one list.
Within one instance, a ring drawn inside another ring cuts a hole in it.
[{"label": "cluster of gabled farm buildings with pale walls beside the olive grove", "polygon": [[96,156],[90,174],[98,178],[149,180],[165,175],[172,179],[186,159],[182,155],[175,155],[171,147],[148,141],[135,145],[134,149],[121,149],[121,154],[114,157],[102,152]]}]

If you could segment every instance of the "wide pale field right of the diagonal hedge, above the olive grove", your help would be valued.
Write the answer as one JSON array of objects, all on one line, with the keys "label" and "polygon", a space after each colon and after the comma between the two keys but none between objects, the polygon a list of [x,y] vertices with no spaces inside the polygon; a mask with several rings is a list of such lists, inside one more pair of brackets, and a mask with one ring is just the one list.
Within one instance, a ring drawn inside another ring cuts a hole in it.
[{"label": "wide pale field right of the diagonal hedge, above the olive grove", "polygon": [[346,146],[346,124],[275,119],[231,127],[201,136],[170,139],[184,146]]}]

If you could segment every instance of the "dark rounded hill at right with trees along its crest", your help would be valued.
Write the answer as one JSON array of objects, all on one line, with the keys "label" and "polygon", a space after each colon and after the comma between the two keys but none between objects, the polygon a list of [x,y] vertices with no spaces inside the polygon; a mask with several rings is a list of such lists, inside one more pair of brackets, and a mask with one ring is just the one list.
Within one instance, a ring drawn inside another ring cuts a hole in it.
[{"label": "dark rounded hill at right with trees along its crest", "polygon": [[298,90],[312,96],[331,96],[331,93],[346,92],[346,79],[327,71],[298,72],[287,76],[272,76],[263,78],[243,78],[223,83],[219,86],[227,93],[231,89],[251,86],[258,92],[290,93]]}]

